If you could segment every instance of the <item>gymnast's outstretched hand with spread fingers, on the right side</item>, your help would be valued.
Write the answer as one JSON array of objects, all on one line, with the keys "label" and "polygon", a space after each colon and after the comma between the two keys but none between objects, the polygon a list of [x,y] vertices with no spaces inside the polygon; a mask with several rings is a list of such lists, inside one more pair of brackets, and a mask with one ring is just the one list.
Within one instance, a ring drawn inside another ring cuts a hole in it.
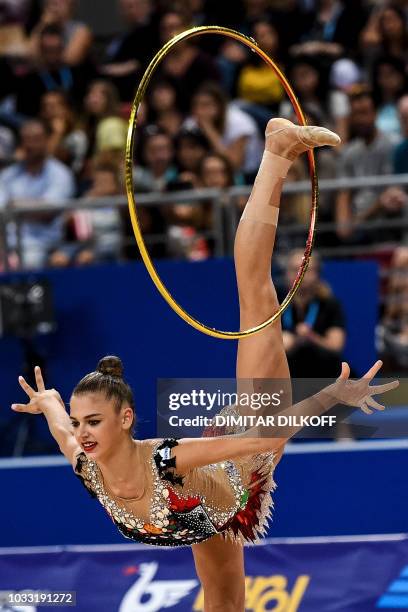
[{"label": "gymnast's outstretched hand with spread fingers, on the right side", "polygon": [[[364,374],[359,380],[350,380],[350,366],[343,362],[341,374],[332,386],[336,399],[342,404],[348,406],[358,406],[366,414],[372,414],[375,410],[385,410],[385,406],[379,404],[373,399],[373,395],[381,395],[391,389],[396,389],[399,386],[398,380],[385,383],[383,385],[373,385],[370,387],[370,382],[373,380],[377,372],[381,369],[382,361],[376,363]],[[371,408],[369,408],[369,406]]]}]

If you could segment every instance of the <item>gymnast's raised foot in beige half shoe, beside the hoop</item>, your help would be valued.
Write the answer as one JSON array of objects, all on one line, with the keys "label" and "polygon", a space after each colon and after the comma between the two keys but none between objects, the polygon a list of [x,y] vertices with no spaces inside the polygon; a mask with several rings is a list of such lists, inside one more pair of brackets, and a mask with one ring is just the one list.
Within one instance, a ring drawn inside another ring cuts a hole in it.
[{"label": "gymnast's raised foot in beige half shoe, beside the hoop", "polygon": [[340,136],[327,128],[295,125],[288,119],[271,119],[265,130],[265,148],[292,161],[314,147],[336,147],[340,143]]}]

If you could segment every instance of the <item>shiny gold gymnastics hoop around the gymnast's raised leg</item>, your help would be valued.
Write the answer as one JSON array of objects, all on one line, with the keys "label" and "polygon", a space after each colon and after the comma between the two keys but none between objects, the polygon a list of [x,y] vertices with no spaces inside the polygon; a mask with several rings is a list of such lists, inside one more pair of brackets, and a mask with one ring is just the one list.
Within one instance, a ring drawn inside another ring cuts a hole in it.
[{"label": "shiny gold gymnastics hoop around the gymnast's raised leg", "polygon": [[287,81],[285,75],[281,72],[278,66],[275,64],[273,60],[264,52],[262,49],[258,47],[258,44],[253,38],[249,38],[240,32],[235,30],[231,30],[229,28],[224,28],[221,26],[200,26],[191,28],[190,30],[185,30],[178,34],[169,42],[167,42],[160,51],[154,56],[149,66],[146,69],[146,72],[143,75],[142,80],[140,81],[139,87],[137,89],[135,98],[132,104],[132,110],[129,119],[129,129],[126,140],[126,192],[129,203],[129,212],[130,218],[132,221],[133,232],[135,234],[136,242],[140,250],[140,254],[142,256],[143,262],[147,268],[147,271],[150,274],[150,278],[156,285],[156,288],[161,293],[163,298],[169,304],[169,306],[189,325],[201,331],[208,336],[213,336],[214,338],[228,339],[228,340],[239,340],[240,338],[247,338],[248,336],[252,336],[254,334],[259,333],[269,325],[272,325],[278,317],[285,311],[285,309],[289,306],[290,302],[293,299],[296,291],[299,289],[299,286],[303,280],[305,272],[307,270],[307,266],[309,264],[310,256],[312,254],[313,241],[315,236],[315,228],[316,228],[316,219],[317,219],[317,209],[318,209],[318,182],[317,182],[317,174],[316,174],[316,164],[314,159],[314,154],[312,150],[308,151],[309,157],[309,173],[310,179],[312,182],[312,209],[310,212],[310,227],[309,233],[306,240],[306,248],[303,256],[303,261],[296,276],[296,279],[289,290],[286,298],[283,300],[282,304],[279,306],[278,310],[266,321],[257,325],[255,327],[251,327],[250,329],[246,329],[238,332],[230,332],[230,331],[221,331],[219,329],[215,329],[213,327],[209,327],[204,323],[201,323],[198,319],[192,317],[180,304],[176,302],[173,296],[168,291],[167,287],[162,282],[160,276],[158,275],[156,268],[153,265],[153,262],[150,258],[150,255],[146,249],[142,232],[139,226],[139,220],[136,212],[136,201],[133,190],[133,150],[134,150],[134,141],[135,141],[135,131],[137,127],[137,112],[142,102],[144,95],[146,93],[146,89],[150,83],[150,80],[160,64],[160,62],[166,57],[166,55],[171,51],[171,49],[182,40],[187,40],[188,38],[193,38],[194,36],[199,36],[200,34],[222,34],[224,36],[233,38],[247,47],[249,47],[252,51],[257,53],[277,74],[281,84],[283,85],[289,99],[292,103],[292,106],[295,110],[298,121],[301,125],[307,125],[305,116],[303,114],[302,108],[293,92],[289,82]]}]

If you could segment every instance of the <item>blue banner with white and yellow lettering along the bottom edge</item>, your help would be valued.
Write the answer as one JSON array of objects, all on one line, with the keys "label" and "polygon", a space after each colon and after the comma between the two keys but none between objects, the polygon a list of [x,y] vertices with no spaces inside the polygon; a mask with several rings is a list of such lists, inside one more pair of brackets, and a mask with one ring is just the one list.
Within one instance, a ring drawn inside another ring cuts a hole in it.
[{"label": "blue banner with white and yellow lettering along the bottom edge", "polygon": [[[17,550],[17,549],[15,549]],[[249,612],[408,610],[408,537],[247,547]],[[123,545],[0,553],[0,610],[24,590],[76,592],[76,612],[202,612],[189,549]],[[17,597],[16,597],[17,596]],[[61,610],[71,607],[61,606]]]}]

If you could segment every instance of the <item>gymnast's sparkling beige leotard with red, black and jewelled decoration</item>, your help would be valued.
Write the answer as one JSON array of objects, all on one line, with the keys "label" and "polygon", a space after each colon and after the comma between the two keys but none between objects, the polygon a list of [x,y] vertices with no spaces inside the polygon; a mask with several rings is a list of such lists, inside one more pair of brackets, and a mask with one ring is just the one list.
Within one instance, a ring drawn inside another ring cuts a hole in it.
[{"label": "gymnast's sparkling beige leotard with red, black and jewelled decoration", "polygon": [[182,477],[172,457],[176,440],[138,444],[149,487],[137,507],[109,494],[97,463],[84,452],[75,466],[125,537],[156,546],[188,546],[217,533],[241,541],[255,541],[264,533],[274,487],[271,454],[196,468]]}]

